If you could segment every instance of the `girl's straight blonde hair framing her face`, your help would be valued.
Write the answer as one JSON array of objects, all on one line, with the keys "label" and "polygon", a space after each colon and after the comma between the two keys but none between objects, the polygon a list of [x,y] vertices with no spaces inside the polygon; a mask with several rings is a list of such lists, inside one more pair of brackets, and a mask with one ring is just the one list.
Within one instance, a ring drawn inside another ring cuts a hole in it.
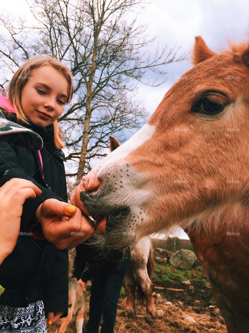
[{"label": "girl's straight blonde hair framing her face", "polygon": [[[8,100],[16,111],[17,119],[23,123],[28,124],[28,118],[25,116],[21,107],[21,91],[26,81],[31,77],[32,71],[38,67],[50,65],[59,71],[67,80],[69,85],[68,98],[66,104],[70,103],[73,98],[73,76],[67,66],[63,65],[60,61],[51,57],[34,57],[26,61],[13,75],[7,88],[4,89],[4,95],[8,93]],[[53,122],[54,139],[53,143],[56,148],[65,147],[63,143],[63,135],[60,130],[58,121]]]}]

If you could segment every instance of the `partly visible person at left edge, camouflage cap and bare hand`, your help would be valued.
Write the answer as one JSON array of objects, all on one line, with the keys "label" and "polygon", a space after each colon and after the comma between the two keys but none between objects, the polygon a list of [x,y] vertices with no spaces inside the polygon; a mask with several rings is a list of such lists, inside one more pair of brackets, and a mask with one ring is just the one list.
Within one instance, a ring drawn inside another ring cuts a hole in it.
[{"label": "partly visible person at left edge, camouflage cap and bare hand", "polygon": [[[0,144],[6,141],[31,150],[42,148],[41,137],[4,117],[0,111]],[[29,180],[13,178],[0,187],[0,264],[13,251],[20,231],[23,204],[35,198],[41,190]],[[0,295],[3,293],[0,285]]]}]

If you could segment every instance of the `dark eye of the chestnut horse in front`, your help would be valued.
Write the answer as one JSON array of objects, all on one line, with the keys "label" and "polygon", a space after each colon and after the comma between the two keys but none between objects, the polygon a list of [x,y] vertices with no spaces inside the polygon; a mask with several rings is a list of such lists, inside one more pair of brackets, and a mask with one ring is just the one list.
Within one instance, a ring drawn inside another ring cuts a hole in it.
[{"label": "dark eye of the chestnut horse in front", "polygon": [[207,97],[203,97],[196,103],[191,111],[195,113],[201,113],[203,115],[214,116],[221,113],[225,106],[226,104],[214,102]]}]

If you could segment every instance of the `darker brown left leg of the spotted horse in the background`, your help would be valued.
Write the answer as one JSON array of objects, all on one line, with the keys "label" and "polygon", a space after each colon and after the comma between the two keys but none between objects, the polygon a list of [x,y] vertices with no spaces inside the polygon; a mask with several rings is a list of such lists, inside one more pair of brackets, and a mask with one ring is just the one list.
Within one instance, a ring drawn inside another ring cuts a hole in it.
[{"label": "darker brown left leg of the spotted horse in the background", "polygon": [[124,277],[125,288],[127,291],[126,305],[125,305],[125,315],[127,317],[134,317],[135,310],[135,289],[136,289],[136,281],[134,279],[134,275],[131,267],[128,267],[127,273]]}]

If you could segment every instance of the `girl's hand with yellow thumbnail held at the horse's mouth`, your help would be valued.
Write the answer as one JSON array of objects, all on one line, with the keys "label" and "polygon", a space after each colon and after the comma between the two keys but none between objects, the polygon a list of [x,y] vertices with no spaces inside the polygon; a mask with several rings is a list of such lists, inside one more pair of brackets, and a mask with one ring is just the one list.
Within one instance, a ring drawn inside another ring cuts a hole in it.
[{"label": "girl's hand with yellow thumbnail held at the horse's mouth", "polygon": [[44,237],[58,249],[72,249],[95,232],[91,219],[80,209],[57,199],[45,200],[37,209]]}]

